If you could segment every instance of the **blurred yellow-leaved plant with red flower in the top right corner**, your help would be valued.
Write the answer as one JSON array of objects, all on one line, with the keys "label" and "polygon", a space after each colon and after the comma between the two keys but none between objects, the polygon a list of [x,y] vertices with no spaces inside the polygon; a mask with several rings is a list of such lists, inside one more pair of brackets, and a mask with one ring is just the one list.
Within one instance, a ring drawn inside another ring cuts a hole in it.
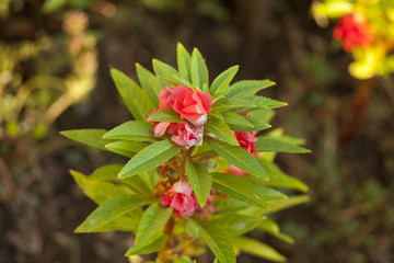
[{"label": "blurred yellow-leaved plant with red flower in the top right corner", "polygon": [[349,72],[358,79],[394,71],[394,2],[392,0],[323,0],[314,2],[313,14],[320,25],[327,18],[339,19],[334,37],[352,53]]}]

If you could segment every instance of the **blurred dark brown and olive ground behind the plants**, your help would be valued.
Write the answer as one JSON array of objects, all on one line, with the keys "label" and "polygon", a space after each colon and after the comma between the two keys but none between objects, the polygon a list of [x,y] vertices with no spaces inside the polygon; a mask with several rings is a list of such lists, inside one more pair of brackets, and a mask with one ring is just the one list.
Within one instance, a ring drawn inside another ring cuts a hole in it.
[{"label": "blurred dark brown and olive ground behind the plants", "polygon": [[273,126],[313,151],[278,157],[310,187],[309,203],[275,215],[296,242],[251,235],[292,263],[394,262],[394,81],[351,78],[311,3],[0,0],[0,262],[127,262],[130,235],[73,233],[95,205],[69,175],[126,160],[58,132],[129,121],[109,68],[136,79],[137,61],[175,66],[177,42],[199,48],[211,79],[240,65],[235,80],[275,81],[264,95],[289,105]]}]

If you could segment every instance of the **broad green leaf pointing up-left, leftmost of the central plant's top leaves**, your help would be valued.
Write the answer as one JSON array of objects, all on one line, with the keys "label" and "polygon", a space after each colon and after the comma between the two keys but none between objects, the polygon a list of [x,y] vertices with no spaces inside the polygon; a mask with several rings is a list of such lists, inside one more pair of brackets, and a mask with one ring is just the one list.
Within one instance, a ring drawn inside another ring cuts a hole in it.
[{"label": "broad green leaf pointing up-left, leftmost of the central plant's top leaves", "polygon": [[138,121],[146,121],[148,114],[155,108],[143,90],[134,80],[117,69],[111,69],[111,75],[132,116]]}]

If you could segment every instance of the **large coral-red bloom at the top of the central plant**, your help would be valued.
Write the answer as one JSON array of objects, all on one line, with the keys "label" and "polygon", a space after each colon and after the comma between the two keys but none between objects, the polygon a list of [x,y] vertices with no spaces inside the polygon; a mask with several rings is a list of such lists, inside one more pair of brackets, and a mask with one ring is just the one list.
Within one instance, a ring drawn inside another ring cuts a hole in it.
[{"label": "large coral-red bloom at the top of the central plant", "polygon": [[186,118],[196,126],[202,126],[207,122],[207,114],[212,105],[210,94],[186,85],[178,85],[165,87],[159,96],[159,111],[172,107],[182,119]]}]

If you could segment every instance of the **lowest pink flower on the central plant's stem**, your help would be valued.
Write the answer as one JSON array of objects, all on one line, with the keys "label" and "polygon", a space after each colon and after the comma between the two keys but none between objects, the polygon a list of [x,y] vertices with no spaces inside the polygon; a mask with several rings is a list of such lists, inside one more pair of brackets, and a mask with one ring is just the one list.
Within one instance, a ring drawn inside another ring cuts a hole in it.
[{"label": "lowest pink flower on the central plant's stem", "polygon": [[196,195],[193,193],[192,185],[178,181],[161,197],[162,206],[171,206],[174,208],[176,217],[193,216],[193,213],[200,206]]}]

